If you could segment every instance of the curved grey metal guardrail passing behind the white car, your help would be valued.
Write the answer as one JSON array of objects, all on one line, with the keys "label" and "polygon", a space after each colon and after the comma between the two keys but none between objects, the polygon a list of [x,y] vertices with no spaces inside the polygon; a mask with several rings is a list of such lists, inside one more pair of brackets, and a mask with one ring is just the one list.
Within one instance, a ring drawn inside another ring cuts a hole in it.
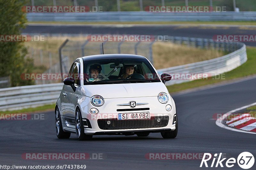
[{"label": "curved grey metal guardrail passing behind the white car", "polygon": [[[228,55],[197,63],[180,65],[157,70],[161,73],[215,73],[221,74],[235,69],[247,61],[244,43],[231,43],[237,49]],[[219,46],[220,47],[220,46]],[[166,85],[183,83],[189,80],[171,80]],[[207,81],[207,80],[205,80]],[[36,107],[56,102],[60,96],[63,83],[28,85],[0,89],[0,110],[17,110],[26,107]]]}]

